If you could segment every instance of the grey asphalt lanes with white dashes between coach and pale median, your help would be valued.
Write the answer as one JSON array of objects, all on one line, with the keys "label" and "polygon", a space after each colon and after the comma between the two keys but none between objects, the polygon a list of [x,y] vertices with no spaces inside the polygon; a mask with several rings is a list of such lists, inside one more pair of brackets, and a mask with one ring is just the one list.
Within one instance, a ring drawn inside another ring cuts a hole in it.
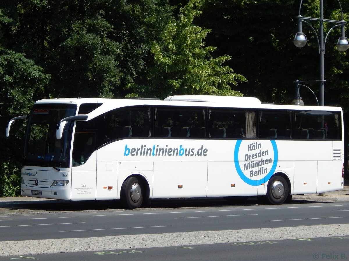
[{"label": "grey asphalt lanes with white dashes between coach and pale median", "polygon": [[111,209],[0,217],[0,241],[346,224],[349,203]]}]

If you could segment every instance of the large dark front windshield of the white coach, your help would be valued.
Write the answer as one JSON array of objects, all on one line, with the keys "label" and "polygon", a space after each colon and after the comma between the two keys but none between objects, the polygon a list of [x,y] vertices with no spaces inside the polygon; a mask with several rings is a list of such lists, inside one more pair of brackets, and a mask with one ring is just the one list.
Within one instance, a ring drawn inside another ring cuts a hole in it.
[{"label": "large dark front windshield of the white coach", "polygon": [[53,168],[69,167],[74,122],[66,125],[62,139],[56,139],[59,121],[74,116],[75,104],[34,104],[25,135],[23,163]]}]

